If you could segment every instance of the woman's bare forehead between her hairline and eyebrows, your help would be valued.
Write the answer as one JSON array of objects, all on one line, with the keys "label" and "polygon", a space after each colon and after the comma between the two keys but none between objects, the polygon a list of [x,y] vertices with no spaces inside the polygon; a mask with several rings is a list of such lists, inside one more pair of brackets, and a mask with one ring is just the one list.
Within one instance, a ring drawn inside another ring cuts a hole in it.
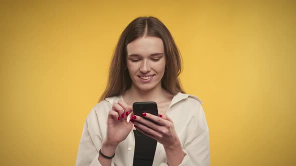
[{"label": "woman's bare forehead between her hairline and eyebrows", "polygon": [[154,53],[164,53],[164,43],[159,37],[144,36],[139,37],[126,46],[127,55],[151,55]]}]

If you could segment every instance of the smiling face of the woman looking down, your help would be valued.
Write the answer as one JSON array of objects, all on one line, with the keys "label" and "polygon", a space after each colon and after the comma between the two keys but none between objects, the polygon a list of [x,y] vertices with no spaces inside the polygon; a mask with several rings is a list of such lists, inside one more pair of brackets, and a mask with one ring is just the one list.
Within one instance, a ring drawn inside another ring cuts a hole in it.
[{"label": "smiling face of the woman looking down", "polygon": [[166,57],[163,40],[159,37],[139,37],[126,46],[126,64],[132,80],[131,88],[151,90],[161,87]]}]

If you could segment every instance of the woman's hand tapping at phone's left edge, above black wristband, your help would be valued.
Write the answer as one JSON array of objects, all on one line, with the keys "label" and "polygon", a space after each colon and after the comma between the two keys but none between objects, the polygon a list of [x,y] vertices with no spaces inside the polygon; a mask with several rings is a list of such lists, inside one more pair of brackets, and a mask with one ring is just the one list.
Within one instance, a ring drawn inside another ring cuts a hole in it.
[{"label": "woman's hand tapping at phone's left edge, above black wristband", "polygon": [[117,145],[124,140],[133,127],[133,123],[127,122],[128,114],[132,113],[132,106],[123,100],[114,102],[107,119],[107,136],[104,143]]}]

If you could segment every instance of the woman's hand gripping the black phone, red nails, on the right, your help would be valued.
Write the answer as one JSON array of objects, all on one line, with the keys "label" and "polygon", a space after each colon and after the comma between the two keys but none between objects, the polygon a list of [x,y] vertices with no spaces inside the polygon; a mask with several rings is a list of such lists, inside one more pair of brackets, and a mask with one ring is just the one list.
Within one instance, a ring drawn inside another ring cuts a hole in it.
[{"label": "woman's hand gripping the black phone, red nails, on the right", "polygon": [[158,142],[162,143],[165,148],[174,148],[174,146],[180,145],[174,122],[169,116],[156,116],[150,113],[143,113],[142,115],[153,120],[155,123],[141,116],[133,115],[132,122],[137,130],[156,139]]}]

